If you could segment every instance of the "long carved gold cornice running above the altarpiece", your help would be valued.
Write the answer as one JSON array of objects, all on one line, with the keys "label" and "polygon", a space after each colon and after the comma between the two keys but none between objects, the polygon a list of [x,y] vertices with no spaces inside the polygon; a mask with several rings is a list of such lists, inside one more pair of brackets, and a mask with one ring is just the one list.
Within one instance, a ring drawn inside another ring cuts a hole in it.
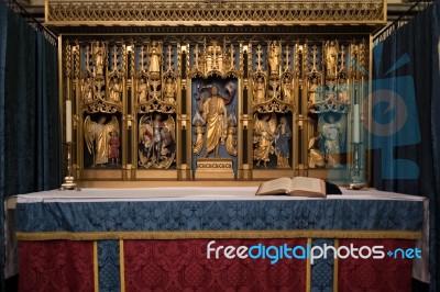
[{"label": "long carved gold cornice running above the altarpiece", "polygon": [[45,24],[53,26],[289,26],[385,23],[385,0],[45,0]]}]

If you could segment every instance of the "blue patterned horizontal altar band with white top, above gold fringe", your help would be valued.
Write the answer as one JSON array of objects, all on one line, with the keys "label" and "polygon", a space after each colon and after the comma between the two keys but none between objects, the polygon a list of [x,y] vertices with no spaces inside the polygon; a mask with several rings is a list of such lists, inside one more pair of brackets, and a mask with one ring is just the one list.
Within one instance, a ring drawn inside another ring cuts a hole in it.
[{"label": "blue patterned horizontal altar band with white top, above gold fringe", "polygon": [[394,232],[405,232],[404,237],[409,234],[413,238],[420,237],[424,222],[424,198],[420,196],[344,191],[342,195],[310,199],[255,196],[255,190],[88,189],[25,194],[16,202],[16,217],[20,218],[16,232],[20,236],[33,233],[50,236],[52,233],[55,237],[61,233],[59,237],[64,239],[75,237],[77,233],[94,233],[97,238],[106,239],[112,236],[110,233],[124,236],[125,232],[146,232],[144,236],[148,237],[148,232],[195,231],[292,231],[292,237],[307,232],[355,231],[359,235],[361,232],[383,232],[383,238]]}]

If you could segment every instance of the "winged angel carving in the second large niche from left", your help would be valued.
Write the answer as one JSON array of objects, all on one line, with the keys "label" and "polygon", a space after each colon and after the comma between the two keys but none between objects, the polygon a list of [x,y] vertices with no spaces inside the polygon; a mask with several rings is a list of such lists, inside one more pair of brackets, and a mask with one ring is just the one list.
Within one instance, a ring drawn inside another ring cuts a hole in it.
[{"label": "winged angel carving in the second large niche from left", "polygon": [[172,115],[143,115],[139,123],[139,165],[168,169],[174,162],[176,123]]}]

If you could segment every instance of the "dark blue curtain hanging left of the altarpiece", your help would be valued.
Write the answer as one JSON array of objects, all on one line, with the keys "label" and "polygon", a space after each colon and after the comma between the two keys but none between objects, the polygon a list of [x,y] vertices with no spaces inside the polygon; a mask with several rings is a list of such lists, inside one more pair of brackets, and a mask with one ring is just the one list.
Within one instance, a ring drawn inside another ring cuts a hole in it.
[{"label": "dark blue curtain hanging left of the altarpiece", "polygon": [[[62,167],[57,48],[4,1],[0,1],[0,196],[4,200],[59,187]],[[3,204],[0,213],[4,218]],[[0,228],[3,279],[3,220]]]}]

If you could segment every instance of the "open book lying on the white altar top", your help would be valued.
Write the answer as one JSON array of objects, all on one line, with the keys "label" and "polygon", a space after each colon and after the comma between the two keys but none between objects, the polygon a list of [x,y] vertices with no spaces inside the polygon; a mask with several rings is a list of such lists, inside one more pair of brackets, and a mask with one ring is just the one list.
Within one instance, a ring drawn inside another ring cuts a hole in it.
[{"label": "open book lying on the white altar top", "polygon": [[256,191],[256,195],[268,194],[326,198],[326,181],[307,177],[274,179],[260,184]]}]

